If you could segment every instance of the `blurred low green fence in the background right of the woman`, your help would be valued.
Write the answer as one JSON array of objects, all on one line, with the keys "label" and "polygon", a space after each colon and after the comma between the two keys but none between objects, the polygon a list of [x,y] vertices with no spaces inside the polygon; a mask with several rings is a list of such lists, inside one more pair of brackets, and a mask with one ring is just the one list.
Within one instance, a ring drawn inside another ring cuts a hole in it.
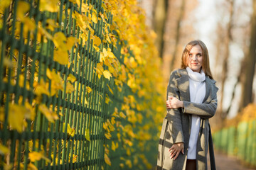
[{"label": "blurred low green fence in the background right of the woman", "polygon": [[240,122],[237,127],[231,126],[214,132],[215,149],[256,166],[256,120]]}]

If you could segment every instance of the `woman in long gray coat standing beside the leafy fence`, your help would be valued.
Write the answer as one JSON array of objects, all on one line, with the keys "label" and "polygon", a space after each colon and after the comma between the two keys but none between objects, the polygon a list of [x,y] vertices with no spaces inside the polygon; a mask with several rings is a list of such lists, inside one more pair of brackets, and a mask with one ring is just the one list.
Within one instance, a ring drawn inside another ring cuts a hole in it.
[{"label": "woman in long gray coat standing beside the leafy fence", "polygon": [[206,45],[188,42],[181,69],[171,72],[167,87],[167,115],[161,129],[157,169],[215,169],[208,119],[215,115],[217,91]]}]

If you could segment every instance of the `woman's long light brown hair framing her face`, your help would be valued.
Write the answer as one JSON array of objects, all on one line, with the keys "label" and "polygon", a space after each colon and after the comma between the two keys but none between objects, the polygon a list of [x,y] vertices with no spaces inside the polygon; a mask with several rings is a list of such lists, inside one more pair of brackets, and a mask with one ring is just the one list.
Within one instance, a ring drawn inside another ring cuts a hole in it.
[{"label": "woman's long light brown hair framing her face", "polygon": [[208,50],[206,45],[201,40],[192,40],[191,42],[188,42],[188,44],[186,45],[182,53],[181,68],[186,69],[186,67],[188,67],[188,62],[187,62],[188,55],[192,47],[195,45],[200,45],[201,49],[203,50],[203,64],[202,64],[203,72],[206,74],[206,76],[210,77],[210,79],[213,79],[213,76],[210,72],[210,61],[209,61]]}]

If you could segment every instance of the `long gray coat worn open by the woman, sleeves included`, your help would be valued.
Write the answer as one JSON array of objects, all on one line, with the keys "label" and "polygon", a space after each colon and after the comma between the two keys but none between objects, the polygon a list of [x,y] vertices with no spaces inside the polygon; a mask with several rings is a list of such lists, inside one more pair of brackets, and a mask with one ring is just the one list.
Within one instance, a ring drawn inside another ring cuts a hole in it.
[{"label": "long gray coat worn open by the woman, sleeves included", "polygon": [[[206,96],[203,103],[190,102],[188,72],[186,69],[176,69],[171,72],[167,87],[167,96],[174,96],[183,101],[184,108],[167,109],[166,118],[161,129],[157,169],[180,170],[186,168],[188,141],[191,131],[191,115],[201,117],[197,142],[197,169],[207,169],[207,152],[210,144],[211,169],[215,169],[213,141],[208,118],[215,115],[217,108],[217,91],[215,81],[206,76]],[[184,154],[179,154],[176,160],[170,159],[169,148],[177,142],[184,143]]]}]

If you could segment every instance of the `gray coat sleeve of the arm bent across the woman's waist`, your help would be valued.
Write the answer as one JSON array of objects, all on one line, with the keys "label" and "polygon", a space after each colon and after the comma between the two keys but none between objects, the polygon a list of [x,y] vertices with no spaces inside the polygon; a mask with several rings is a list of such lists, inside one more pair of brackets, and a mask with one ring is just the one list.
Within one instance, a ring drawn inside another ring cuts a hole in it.
[{"label": "gray coat sleeve of the arm bent across the woman's waist", "polygon": [[211,118],[215,115],[217,109],[217,94],[213,97],[210,103],[193,103],[189,101],[183,101],[184,110],[183,113],[192,115],[198,115],[201,118]]}]

